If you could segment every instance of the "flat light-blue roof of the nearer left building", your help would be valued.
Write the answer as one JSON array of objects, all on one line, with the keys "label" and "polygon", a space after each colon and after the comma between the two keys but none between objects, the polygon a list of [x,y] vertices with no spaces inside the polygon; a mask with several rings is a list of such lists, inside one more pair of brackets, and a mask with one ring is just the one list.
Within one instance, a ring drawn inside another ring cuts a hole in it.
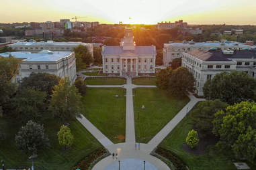
[{"label": "flat light-blue roof of the nearer left building", "polygon": [[0,54],[2,57],[11,56],[15,58],[24,58],[22,61],[28,62],[56,62],[62,58],[70,56],[73,52],[50,52],[48,50],[43,50],[37,54],[32,54],[30,52],[6,52]]}]

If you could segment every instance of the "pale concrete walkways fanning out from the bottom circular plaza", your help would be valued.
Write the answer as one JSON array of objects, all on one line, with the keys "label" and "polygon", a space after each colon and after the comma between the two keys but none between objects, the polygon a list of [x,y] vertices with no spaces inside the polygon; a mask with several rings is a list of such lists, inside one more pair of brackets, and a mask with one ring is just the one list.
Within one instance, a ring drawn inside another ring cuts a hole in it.
[{"label": "pale concrete walkways fanning out from the bottom circular plaza", "polygon": [[[126,88],[126,141],[125,143],[114,144],[108,137],[105,137],[87,118],[82,116],[82,118],[77,118],[83,126],[105,147],[110,151],[110,153],[118,153],[118,160],[124,159],[142,159],[152,165],[155,165],[159,170],[170,170],[169,167],[163,163],[157,157],[153,157],[150,153],[167,137],[167,135],[179,124],[179,122],[187,115],[197,102],[203,101],[204,99],[196,98],[192,94],[189,94],[190,101],[176,114],[176,116],[168,122],[165,127],[151,139],[148,143],[141,143],[140,150],[135,149],[135,129],[134,129],[134,108],[133,108],[133,88],[156,88],[157,86],[138,86],[132,84],[131,78],[126,78],[127,82],[124,85],[117,86],[93,86],[87,85],[90,88]],[[97,163],[93,170],[105,170],[108,165],[118,161],[113,159],[110,155],[105,159],[102,159]]]}]

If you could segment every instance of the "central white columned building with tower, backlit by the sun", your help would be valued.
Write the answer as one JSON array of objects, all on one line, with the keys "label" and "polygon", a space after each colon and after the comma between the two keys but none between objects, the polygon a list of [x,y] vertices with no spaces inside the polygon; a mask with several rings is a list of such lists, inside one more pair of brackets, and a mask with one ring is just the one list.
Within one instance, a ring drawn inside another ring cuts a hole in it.
[{"label": "central white columned building with tower, backlit by the sun", "polygon": [[103,73],[120,76],[155,73],[155,46],[136,46],[132,29],[126,29],[120,46],[103,46],[101,54]]}]

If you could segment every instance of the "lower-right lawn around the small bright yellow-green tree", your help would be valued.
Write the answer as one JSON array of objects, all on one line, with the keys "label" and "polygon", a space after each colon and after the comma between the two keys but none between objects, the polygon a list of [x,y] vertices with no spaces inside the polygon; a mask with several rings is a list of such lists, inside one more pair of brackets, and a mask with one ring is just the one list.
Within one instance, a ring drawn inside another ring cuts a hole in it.
[{"label": "lower-right lawn around the small bright yellow-green tree", "polygon": [[191,118],[189,116],[183,118],[181,122],[173,129],[167,138],[160,144],[160,147],[171,150],[188,165],[190,170],[235,170],[230,159],[224,157],[221,153],[211,146],[204,155],[191,155],[181,149],[181,145],[185,143],[187,133],[191,130]]}]

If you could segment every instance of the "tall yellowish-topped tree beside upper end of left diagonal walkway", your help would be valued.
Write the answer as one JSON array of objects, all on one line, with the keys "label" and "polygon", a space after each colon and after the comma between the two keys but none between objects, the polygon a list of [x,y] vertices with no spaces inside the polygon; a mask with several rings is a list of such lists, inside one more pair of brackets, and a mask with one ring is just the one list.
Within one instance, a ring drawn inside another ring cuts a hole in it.
[{"label": "tall yellowish-topped tree beside upper end of left diagonal walkway", "polygon": [[54,86],[50,101],[49,110],[60,122],[75,120],[82,110],[81,95],[75,86],[69,84],[69,78],[61,79],[58,86]]}]

